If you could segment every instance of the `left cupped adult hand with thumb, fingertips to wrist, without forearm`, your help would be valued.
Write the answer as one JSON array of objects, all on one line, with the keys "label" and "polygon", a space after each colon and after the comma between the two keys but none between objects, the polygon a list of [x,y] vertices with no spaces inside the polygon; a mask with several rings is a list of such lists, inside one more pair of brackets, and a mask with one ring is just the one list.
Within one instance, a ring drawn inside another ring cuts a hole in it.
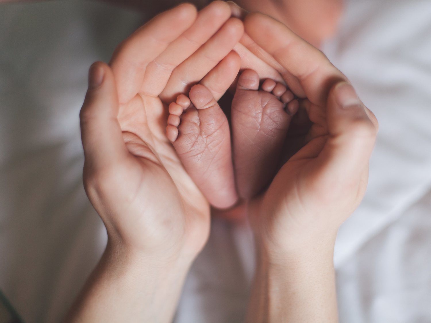
[{"label": "left cupped adult hand with thumb, fingertips to wrist, without forearm", "polygon": [[166,138],[162,99],[202,78],[215,95],[234,81],[219,72],[240,64],[231,50],[243,25],[230,16],[221,1],[199,13],[180,5],[120,44],[111,67],[91,68],[80,115],[84,186],[122,252],[191,259],[206,242],[209,205]]}]

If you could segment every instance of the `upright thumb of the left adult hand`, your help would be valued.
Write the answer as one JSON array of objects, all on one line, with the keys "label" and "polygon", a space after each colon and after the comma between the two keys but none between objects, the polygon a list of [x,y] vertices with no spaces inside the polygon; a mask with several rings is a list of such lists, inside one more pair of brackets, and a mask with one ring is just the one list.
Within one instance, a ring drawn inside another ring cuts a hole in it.
[{"label": "upright thumb of the left adult hand", "polygon": [[91,65],[88,90],[79,114],[85,162],[100,169],[127,155],[117,116],[119,100],[111,68],[102,62]]}]

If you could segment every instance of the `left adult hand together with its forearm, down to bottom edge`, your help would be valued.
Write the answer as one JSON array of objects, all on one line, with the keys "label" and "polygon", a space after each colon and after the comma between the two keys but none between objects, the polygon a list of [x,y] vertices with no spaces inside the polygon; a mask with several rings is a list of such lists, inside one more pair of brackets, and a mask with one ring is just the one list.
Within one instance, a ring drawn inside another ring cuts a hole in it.
[{"label": "left adult hand together with its forearm, down to bottom edge", "polygon": [[[160,74],[159,66],[174,71],[194,53],[200,53],[196,59],[208,56],[207,48],[196,49],[216,30],[193,26],[206,20],[200,15],[217,16],[228,29],[220,45],[227,56],[201,66],[212,69],[202,83],[215,96],[219,86],[228,87],[218,64],[239,64],[236,54],[228,54],[231,38],[239,39],[243,27],[229,20],[225,3],[211,8],[197,14],[183,4],[162,13],[120,44],[110,66],[98,62],[90,70],[80,114],[84,187],[106,226],[108,244],[69,322],[172,320],[184,277],[208,238],[210,209],[166,138],[167,107],[159,95],[169,73]],[[150,68],[154,61],[159,64]],[[154,80],[151,87],[143,86],[147,77]]]}]

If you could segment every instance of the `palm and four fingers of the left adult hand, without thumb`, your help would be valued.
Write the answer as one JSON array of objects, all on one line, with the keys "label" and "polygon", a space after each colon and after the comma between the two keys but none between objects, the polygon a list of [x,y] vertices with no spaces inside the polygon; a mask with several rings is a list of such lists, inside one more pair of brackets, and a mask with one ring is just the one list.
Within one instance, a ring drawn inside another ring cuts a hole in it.
[{"label": "palm and four fingers of the left adult hand, without thumb", "polygon": [[115,225],[132,245],[160,251],[158,245],[166,253],[187,244],[182,250],[196,253],[206,241],[209,205],[166,137],[164,103],[200,80],[214,94],[224,88],[220,70],[232,67],[232,62],[239,65],[230,52],[243,33],[243,25],[230,15],[222,2],[199,13],[191,5],[180,5],[135,31],[112,57],[127,162],[121,161],[121,178],[114,181],[124,190],[111,195],[116,195],[117,205],[132,208],[132,219],[118,217]]}]

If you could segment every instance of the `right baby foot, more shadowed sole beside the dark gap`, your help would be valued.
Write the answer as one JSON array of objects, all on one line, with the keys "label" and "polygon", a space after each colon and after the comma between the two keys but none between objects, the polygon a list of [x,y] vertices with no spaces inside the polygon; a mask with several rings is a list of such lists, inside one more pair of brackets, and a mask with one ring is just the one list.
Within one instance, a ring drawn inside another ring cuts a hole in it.
[{"label": "right baby foot, more shadowed sole beside the dark gap", "polygon": [[250,199],[278,171],[287,129],[298,110],[294,94],[267,79],[259,90],[259,75],[245,70],[232,101],[235,176],[240,197]]}]

